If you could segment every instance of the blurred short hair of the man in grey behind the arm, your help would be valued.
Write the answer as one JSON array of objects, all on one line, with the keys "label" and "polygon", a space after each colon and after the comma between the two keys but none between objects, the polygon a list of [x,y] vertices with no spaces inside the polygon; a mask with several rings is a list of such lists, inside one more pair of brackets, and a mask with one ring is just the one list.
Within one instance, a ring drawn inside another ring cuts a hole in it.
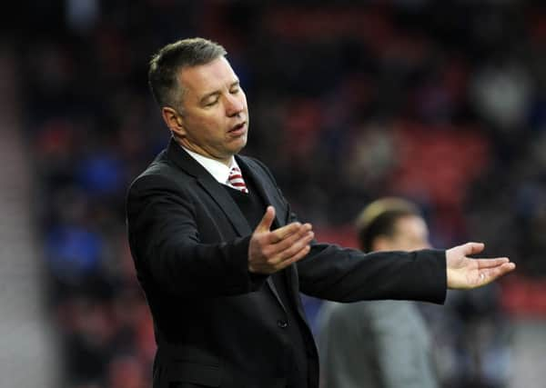
[{"label": "blurred short hair of the man in grey behind the arm", "polygon": [[366,206],[356,221],[360,249],[370,252],[377,237],[392,237],[396,222],[407,216],[420,217],[421,214],[417,206],[401,198],[381,198]]}]

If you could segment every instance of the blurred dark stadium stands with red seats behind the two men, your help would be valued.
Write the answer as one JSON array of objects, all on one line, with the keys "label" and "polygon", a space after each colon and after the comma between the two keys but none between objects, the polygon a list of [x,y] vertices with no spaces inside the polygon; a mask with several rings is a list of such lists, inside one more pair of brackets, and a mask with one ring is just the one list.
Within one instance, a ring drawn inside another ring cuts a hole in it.
[{"label": "blurred dark stadium stands with red seats behind the two men", "polygon": [[[546,5],[540,1],[10,2],[0,16],[0,386],[144,388],[155,352],[126,244],[127,185],[167,144],[163,45],[224,45],[244,154],[319,240],[369,201],[420,205],[439,248],[516,274],[424,306],[444,387],[544,386]],[[316,329],[320,301],[304,296]]]}]

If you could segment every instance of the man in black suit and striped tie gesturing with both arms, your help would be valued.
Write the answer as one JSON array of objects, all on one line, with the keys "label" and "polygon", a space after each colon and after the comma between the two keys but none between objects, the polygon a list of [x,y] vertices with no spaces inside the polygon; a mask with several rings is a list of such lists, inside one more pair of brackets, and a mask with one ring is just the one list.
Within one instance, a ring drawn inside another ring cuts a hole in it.
[{"label": "man in black suit and striped tie gesturing with both arms", "polygon": [[172,139],[129,188],[128,238],[154,317],[154,387],[318,386],[298,291],[340,302],[442,303],[511,271],[471,260],[481,244],[361,254],[313,240],[268,168],[239,156],[248,108],[220,45],[163,47],[149,83]]}]

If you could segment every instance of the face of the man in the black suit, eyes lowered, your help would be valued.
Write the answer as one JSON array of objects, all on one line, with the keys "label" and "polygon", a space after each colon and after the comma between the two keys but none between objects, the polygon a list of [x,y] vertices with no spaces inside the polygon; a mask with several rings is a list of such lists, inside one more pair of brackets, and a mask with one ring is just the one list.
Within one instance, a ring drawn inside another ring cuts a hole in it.
[{"label": "face of the man in the black suit, eyes lowered", "polygon": [[183,68],[182,124],[173,130],[180,144],[197,154],[229,163],[247,144],[247,97],[223,56],[207,65]]}]

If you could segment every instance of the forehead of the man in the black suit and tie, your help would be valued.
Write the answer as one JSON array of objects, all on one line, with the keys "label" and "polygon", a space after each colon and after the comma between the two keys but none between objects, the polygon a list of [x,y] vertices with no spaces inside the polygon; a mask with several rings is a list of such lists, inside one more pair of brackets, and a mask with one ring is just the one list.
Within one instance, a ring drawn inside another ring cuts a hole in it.
[{"label": "forehead of the man in the black suit and tie", "polygon": [[224,56],[205,65],[183,67],[178,79],[187,92],[197,96],[228,87],[238,80]]}]

